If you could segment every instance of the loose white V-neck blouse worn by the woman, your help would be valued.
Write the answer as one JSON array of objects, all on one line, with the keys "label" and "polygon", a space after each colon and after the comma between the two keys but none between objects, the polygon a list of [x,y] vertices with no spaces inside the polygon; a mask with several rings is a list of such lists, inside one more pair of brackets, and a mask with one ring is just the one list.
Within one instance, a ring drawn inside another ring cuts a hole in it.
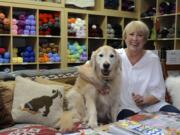
[{"label": "loose white V-neck blouse worn by the woman", "polygon": [[[124,49],[117,49],[117,52],[122,59],[121,106],[119,111],[130,109],[134,112],[156,112],[162,106],[167,105],[159,57],[152,51],[147,50],[144,56],[135,65],[132,65]],[[132,93],[144,96],[153,95],[160,102],[140,108],[132,99]]]}]

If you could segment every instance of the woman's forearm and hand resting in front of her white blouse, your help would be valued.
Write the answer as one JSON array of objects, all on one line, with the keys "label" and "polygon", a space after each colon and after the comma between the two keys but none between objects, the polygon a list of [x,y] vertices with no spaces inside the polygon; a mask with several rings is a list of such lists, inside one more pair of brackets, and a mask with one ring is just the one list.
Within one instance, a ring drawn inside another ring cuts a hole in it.
[{"label": "woman's forearm and hand resting in front of her white blouse", "polygon": [[136,103],[136,105],[139,107],[143,107],[146,105],[152,105],[152,104],[159,102],[159,100],[152,95],[142,96],[139,94],[132,93],[132,98],[133,98],[134,102]]}]

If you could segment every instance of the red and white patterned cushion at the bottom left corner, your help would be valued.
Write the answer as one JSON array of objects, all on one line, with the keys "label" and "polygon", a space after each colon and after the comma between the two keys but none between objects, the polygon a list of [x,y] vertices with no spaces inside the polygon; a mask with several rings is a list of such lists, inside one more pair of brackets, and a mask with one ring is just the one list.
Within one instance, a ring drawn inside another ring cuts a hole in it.
[{"label": "red and white patterned cushion at the bottom left corner", "polygon": [[55,135],[57,130],[43,125],[20,124],[0,131],[1,135]]}]

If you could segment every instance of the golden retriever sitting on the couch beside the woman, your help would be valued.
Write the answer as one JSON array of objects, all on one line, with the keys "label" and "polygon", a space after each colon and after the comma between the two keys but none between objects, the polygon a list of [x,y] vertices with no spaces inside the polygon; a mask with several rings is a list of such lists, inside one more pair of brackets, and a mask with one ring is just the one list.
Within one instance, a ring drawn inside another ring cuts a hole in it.
[{"label": "golden retriever sitting on the couch beside the woman", "polygon": [[[94,78],[108,86],[108,94],[101,94],[80,76],[66,94],[68,111],[60,118],[60,129],[68,130],[75,122],[97,127],[100,120],[116,121],[121,83],[121,59],[110,46],[104,45],[93,52],[89,61]],[[87,71],[88,72],[88,71]]]}]

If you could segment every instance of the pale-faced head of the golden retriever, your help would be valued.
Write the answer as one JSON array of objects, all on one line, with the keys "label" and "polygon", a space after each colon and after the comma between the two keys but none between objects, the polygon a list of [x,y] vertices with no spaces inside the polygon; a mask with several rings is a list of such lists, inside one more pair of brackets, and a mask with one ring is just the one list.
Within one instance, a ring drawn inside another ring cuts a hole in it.
[{"label": "pale-faced head of the golden retriever", "polygon": [[113,77],[121,69],[120,56],[114,48],[104,45],[91,55],[90,65],[100,77]]}]

